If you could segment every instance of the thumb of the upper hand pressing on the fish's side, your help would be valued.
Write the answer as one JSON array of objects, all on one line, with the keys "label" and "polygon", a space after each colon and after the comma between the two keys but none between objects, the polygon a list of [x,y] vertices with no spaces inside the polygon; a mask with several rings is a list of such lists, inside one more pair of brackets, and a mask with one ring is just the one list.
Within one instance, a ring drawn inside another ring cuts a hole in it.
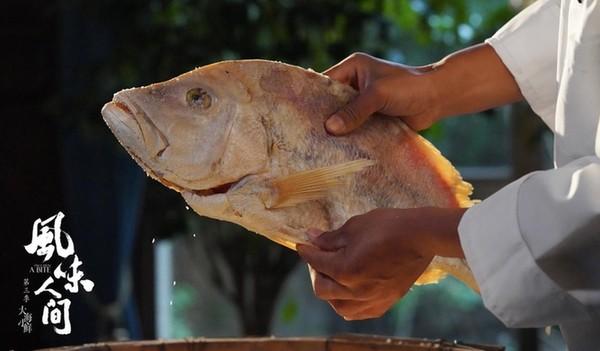
[{"label": "thumb of the upper hand pressing on the fish's side", "polygon": [[333,135],[344,135],[360,127],[379,110],[380,99],[372,87],[365,89],[354,100],[331,115],[325,122],[325,128]]}]

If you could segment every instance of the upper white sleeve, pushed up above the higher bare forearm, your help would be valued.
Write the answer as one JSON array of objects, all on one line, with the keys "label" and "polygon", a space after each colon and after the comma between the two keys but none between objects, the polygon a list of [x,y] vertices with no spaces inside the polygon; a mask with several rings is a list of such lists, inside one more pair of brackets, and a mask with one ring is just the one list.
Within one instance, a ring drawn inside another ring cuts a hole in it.
[{"label": "upper white sleeve, pushed up above the higher bare forearm", "polygon": [[486,40],[533,111],[552,129],[558,96],[559,18],[560,1],[538,0]]}]

